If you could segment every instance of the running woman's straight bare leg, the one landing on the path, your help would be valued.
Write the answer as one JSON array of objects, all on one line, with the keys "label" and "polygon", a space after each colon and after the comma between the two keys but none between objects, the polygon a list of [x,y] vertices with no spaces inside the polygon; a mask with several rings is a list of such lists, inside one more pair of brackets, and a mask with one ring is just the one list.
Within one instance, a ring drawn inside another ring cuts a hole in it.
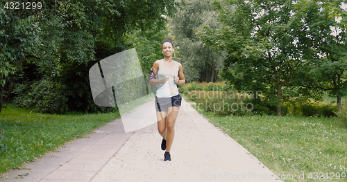
[{"label": "running woman's straight bare leg, the one landing on the path", "polygon": [[170,152],[171,145],[174,142],[174,136],[175,136],[175,122],[178,115],[178,111],[180,110],[180,107],[174,106],[169,107],[168,112],[169,115],[167,116],[167,122],[166,122],[166,128],[167,128],[167,150],[166,152]]}]

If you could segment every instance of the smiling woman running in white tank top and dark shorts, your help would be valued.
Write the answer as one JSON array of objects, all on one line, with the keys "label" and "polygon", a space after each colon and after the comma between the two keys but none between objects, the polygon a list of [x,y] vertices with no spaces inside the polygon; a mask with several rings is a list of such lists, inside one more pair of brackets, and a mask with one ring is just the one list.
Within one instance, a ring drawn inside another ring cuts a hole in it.
[{"label": "smiling woman running in white tank top and dark shorts", "polygon": [[164,161],[171,161],[170,149],[174,141],[175,122],[182,101],[177,84],[181,86],[185,84],[185,75],[183,75],[182,64],[172,60],[174,43],[171,39],[164,39],[162,42],[162,53],[164,59],[154,62],[149,84],[156,84],[158,87],[155,97],[158,131],[162,136],[162,150],[166,150]]}]

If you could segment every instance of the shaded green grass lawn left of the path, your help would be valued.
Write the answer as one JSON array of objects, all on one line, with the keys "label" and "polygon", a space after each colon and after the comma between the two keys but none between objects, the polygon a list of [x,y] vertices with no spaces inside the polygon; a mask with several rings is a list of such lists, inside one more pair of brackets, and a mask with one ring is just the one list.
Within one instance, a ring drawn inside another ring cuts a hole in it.
[{"label": "shaded green grass lawn left of the path", "polygon": [[44,114],[8,105],[0,113],[0,127],[7,138],[1,140],[6,152],[0,150],[0,174],[35,161],[67,141],[90,134],[119,117],[119,113]]}]

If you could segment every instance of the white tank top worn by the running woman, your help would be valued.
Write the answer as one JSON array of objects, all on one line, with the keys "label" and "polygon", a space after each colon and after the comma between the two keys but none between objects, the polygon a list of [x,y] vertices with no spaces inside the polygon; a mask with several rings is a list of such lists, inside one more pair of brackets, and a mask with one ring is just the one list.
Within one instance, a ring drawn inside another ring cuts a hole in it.
[{"label": "white tank top worn by the running woman", "polygon": [[178,62],[174,61],[174,67],[170,68],[164,60],[159,61],[158,80],[165,77],[169,78],[167,82],[158,84],[157,97],[171,98],[178,95],[178,88],[175,82],[175,76],[178,76]]}]

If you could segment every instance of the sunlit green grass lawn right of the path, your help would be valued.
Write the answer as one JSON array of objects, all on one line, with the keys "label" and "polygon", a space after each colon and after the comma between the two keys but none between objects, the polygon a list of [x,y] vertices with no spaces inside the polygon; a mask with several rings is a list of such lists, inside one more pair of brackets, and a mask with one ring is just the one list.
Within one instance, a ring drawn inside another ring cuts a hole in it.
[{"label": "sunlit green grass lawn right of the path", "polygon": [[[282,175],[283,181],[347,179],[347,127],[344,122],[324,117],[240,117],[199,112],[275,174]],[[300,174],[305,175],[303,180],[298,180]]]}]

